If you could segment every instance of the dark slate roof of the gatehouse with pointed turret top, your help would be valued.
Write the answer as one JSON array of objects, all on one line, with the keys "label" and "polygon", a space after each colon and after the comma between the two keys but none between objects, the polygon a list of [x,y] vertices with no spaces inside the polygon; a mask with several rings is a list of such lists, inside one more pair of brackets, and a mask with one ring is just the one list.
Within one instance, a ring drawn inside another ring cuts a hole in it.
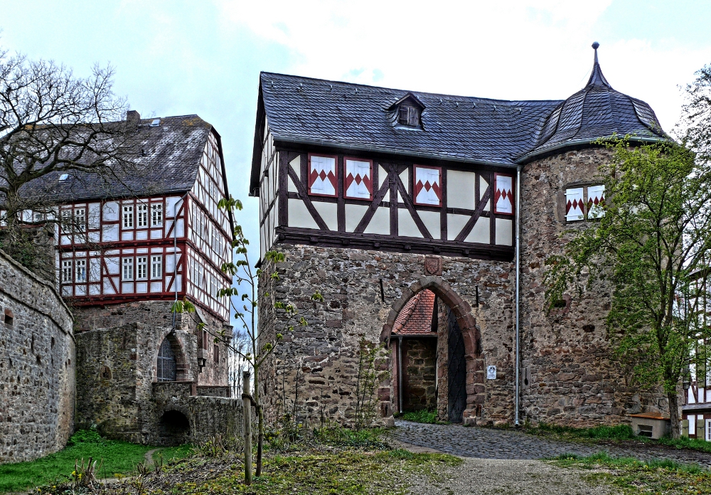
[{"label": "dark slate roof of the gatehouse with pointed turret top", "polygon": [[[397,125],[391,107],[408,93],[424,105],[421,129]],[[501,166],[613,132],[666,139],[649,105],[612,90],[597,49],[588,85],[567,100],[491,100],[263,72],[253,192],[260,178],[262,114],[277,142]]]}]

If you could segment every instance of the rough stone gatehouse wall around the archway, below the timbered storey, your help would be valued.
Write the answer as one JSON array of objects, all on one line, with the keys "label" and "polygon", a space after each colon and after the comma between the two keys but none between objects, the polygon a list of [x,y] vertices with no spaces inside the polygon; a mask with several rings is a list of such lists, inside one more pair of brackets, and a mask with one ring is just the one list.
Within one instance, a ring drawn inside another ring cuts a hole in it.
[{"label": "rough stone gatehouse wall around the archway, below the timbered storey", "polygon": [[[424,275],[424,256],[376,250],[317,248],[277,245],[287,257],[279,263],[279,280],[260,284],[260,331],[265,339],[282,331],[280,314],[269,311],[264,292],[296,304],[308,326],[284,333],[274,360],[265,366],[262,386],[272,420],[282,410],[282,383],[287,408],[292,408],[299,386],[297,410],[307,422],[319,421],[321,411],[332,420],[353,420],[355,382],[358,373],[358,340],[378,342],[393,302],[403,290]],[[442,278],[472,307],[481,330],[481,349],[486,364],[498,368],[496,380],[485,385],[486,400],[481,422],[510,422],[513,417],[513,264],[442,257]],[[272,271],[268,263],[264,272]],[[383,280],[385,301],[380,295]],[[479,307],[476,307],[479,286]],[[324,302],[311,301],[320,292]],[[388,356],[385,366],[389,369]],[[472,385],[474,386],[474,385]],[[276,392],[276,393],[274,393]],[[390,383],[378,390],[380,400],[390,401]],[[387,402],[386,402],[387,403]],[[380,416],[392,409],[383,408]]]}]

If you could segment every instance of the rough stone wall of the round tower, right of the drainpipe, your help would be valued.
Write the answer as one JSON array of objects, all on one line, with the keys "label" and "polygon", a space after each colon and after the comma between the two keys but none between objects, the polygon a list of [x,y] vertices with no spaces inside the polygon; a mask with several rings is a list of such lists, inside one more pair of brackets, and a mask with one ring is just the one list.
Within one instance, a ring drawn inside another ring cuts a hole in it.
[{"label": "rough stone wall of the round tower, right of the drainpipe", "polygon": [[661,393],[630,385],[630,370],[611,356],[604,317],[609,287],[596,282],[582,297],[548,316],[542,277],[545,259],[562,252],[566,231],[588,222],[565,222],[565,188],[599,183],[605,149],[582,149],[533,161],[521,183],[522,412],[526,418],[587,427],[629,422],[630,413],[668,414]]}]

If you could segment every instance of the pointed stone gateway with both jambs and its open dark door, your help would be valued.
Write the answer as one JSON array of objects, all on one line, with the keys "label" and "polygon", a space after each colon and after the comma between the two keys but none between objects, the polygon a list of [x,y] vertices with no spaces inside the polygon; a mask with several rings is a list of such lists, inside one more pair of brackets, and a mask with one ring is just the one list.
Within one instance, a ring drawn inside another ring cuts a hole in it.
[{"label": "pointed stone gateway with both jambs and its open dark door", "polygon": [[[444,398],[444,400],[447,400],[448,402],[447,415],[449,416],[453,409],[455,413],[447,419],[454,420],[455,422],[459,421],[460,415],[456,408],[459,408],[460,410],[463,408],[464,410],[461,411],[461,420],[465,424],[473,424],[476,422],[476,417],[481,416],[481,405],[484,402],[484,373],[483,356],[481,356],[481,338],[479,329],[476,328],[474,316],[471,314],[471,307],[469,306],[469,303],[464,301],[464,299],[461,299],[461,297],[459,297],[459,295],[451,289],[451,286],[447,282],[442,280],[441,277],[421,277],[417,282],[412,284],[409,289],[405,289],[402,293],[402,297],[392,304],[392,309],[387,315],[387,319],[383,325],[383,331],[380,333],[380,339],[381,341],[387,343],[389,348],[395,348],[395,346],[390,346],[390,344],[392,337],[394,336],[393,329],[396,326],[398,315],[400,315],[400,312],[402,312],[403,309],[406,309],[408,302],[410,302],[413,297],[426,289],[429,289],[429,291],[434,293],[437,300],[441,301],[448,309],[447,314],[449,314],[449,318],[447,318],[447,321],[449,328],[447,331],[449,332],[448,336],[451,336],[452,348],[448,348],[447,351],[444,351],[447,359],[447,366],[451,364],[458,365],[459,371],[464,375],[463,377],[460,377],[460,381],[457,382],[457,377],[455,376],[457,366],[454,366],[454,369],[449,368],[449,371],[452,372],[453,376],[448,376],[448,378],[452,378],[454,380],[449,383],[449,387],[451,387],[452,390],[455,388],[460,390],[460,393],[461,390],[464,389],[464,394],[461,395],[464,395],[466,400],[464,400],[464,397],[460,395],[459,405],[454,405],[451,397]],[[412,306],[412,304],[410,304],[410,306]],[[398,336],[397,339],[398,344],[400,344],[403,340],[400,336]],[[447,339],[447,341],[449,342],[450,339]],[[459,346],[459,348],[457,348],[457,346]],[[397,349],[400,350],[399,347]],[[456,352],[457,350],[459,350],[458,356]],[[442,353],[442,349],[439,349],[438,352]],[[461,363],[461,358],[464,359],[464,363]],[[459,359],[459,363],[454,362],[456,359]],[[402,361],[398,361],[397,356],[392,356],[391,368],[392,366],[398,366],[400,363],[402,363]],[[397,370],[391,371],[395,371],[393,376],[397,376]],[[404,372],[402,372],[400,376],[403,374]],[[463,378],[463,380],[461,380],[461,378]],[[397,388],[397,384],[393,381],[393,383],[391,383],[391,389],[394,388]],[[392,393],[390,396],[390,404],[381,404],[381,410],[394,410],[392,406],[395,405],[398,400],[400,400],[400,397],[396,397],[395,393]],[[462,400],[464,400],[464,404],[461,404]],[[441,406],[442,398],[440,398],[439,402],[439,405]],[[454,400],[454,402],[456,402],[456,400]]]}]

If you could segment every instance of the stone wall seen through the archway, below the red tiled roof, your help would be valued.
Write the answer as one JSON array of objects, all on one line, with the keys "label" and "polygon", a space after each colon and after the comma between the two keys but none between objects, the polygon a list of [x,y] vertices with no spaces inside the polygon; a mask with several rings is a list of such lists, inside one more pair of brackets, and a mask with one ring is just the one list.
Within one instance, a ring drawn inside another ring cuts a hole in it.
[{"label": "stone wall seen through the archway, below the red tiled roof", "polygon": [[402,340],[402,410],[437,408],[437,339]]}]

